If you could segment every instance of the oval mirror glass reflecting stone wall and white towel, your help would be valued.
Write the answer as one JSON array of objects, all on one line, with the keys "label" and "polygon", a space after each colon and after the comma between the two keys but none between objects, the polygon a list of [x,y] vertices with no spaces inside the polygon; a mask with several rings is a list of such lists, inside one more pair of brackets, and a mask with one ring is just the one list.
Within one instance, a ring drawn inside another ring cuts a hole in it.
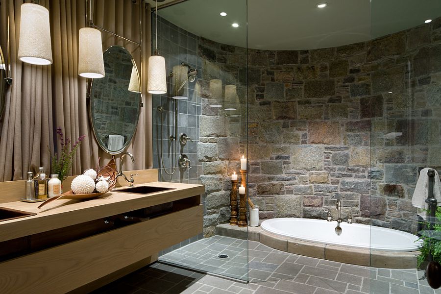
[{"label": "oval mirror glass reflecting stone wall and white towel", "polygon": [[92,82],[89,117],[99,146],[115,155],[130,144],[138,125],[140,79],[132,55],[123,47],[111,46],[103,56],[106,75]]}]

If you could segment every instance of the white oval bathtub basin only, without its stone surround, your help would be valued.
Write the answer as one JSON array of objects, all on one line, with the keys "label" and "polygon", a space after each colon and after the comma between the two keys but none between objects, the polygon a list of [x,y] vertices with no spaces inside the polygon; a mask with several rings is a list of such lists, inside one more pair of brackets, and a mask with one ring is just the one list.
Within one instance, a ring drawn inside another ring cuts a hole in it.
[{"label": "white oval bathtub basin only, without its stone surround", "polygon": [[340,236],[335,233],[336,221],[280,218],[263,221],[260,226],[272,234],[328,245],[394,252],[418,250],[417,236],[366,224],[342,222]]}]

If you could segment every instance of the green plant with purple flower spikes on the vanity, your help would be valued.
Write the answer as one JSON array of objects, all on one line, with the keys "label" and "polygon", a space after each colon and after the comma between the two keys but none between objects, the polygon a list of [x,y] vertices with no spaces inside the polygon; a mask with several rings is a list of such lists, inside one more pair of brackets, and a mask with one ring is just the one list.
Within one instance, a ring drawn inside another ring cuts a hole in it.
[{"label": "green plant with purple flower spikes on the vanity", "polygon": [[[57,127],[57,135],[60,138],[61,148],[59,148],[59,152],[56,152],[51,157],[50,170],[52,171],[52,173],[58,174],[58,178],[61,181],[64,181],[71,170],[73,156],[75,155],[76,150],[78,149],[81,142],[84,140],[86,136],[85,135],[80,136],[78,140],[76,140],[75,143],[72,144],[70,138],[64,138],[61,127]],[[51,154],[49,147],[48,149],[49,149],[49,154]]]}]

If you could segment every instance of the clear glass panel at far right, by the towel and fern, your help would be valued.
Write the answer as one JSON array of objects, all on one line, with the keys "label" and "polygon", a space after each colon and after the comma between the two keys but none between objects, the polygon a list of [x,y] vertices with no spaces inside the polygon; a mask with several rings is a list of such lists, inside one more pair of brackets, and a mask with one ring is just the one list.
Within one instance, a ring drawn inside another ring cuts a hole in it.
[{"label": "clear glass panel at far right, by the towel and fern", "polygon": [[430,256],[417,261],[421,245],[430,249],[417,239],[436,229],[416,207],[428,208],[428,169],[441,172],[441,4],[385,2],[371,1],[371,246],[362,291],[441,293],[425,277]]}]

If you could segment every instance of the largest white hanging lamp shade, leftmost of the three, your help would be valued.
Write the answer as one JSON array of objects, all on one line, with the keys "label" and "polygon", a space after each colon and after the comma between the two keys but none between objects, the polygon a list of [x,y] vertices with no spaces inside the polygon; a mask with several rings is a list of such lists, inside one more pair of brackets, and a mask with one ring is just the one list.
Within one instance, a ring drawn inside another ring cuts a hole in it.
[{"label": "largest white hanging lamp shade, leftmost of the three", "polygon": [[30,64],[52,64],[49,10],[41,5],[21,6],[18,58]]}]

